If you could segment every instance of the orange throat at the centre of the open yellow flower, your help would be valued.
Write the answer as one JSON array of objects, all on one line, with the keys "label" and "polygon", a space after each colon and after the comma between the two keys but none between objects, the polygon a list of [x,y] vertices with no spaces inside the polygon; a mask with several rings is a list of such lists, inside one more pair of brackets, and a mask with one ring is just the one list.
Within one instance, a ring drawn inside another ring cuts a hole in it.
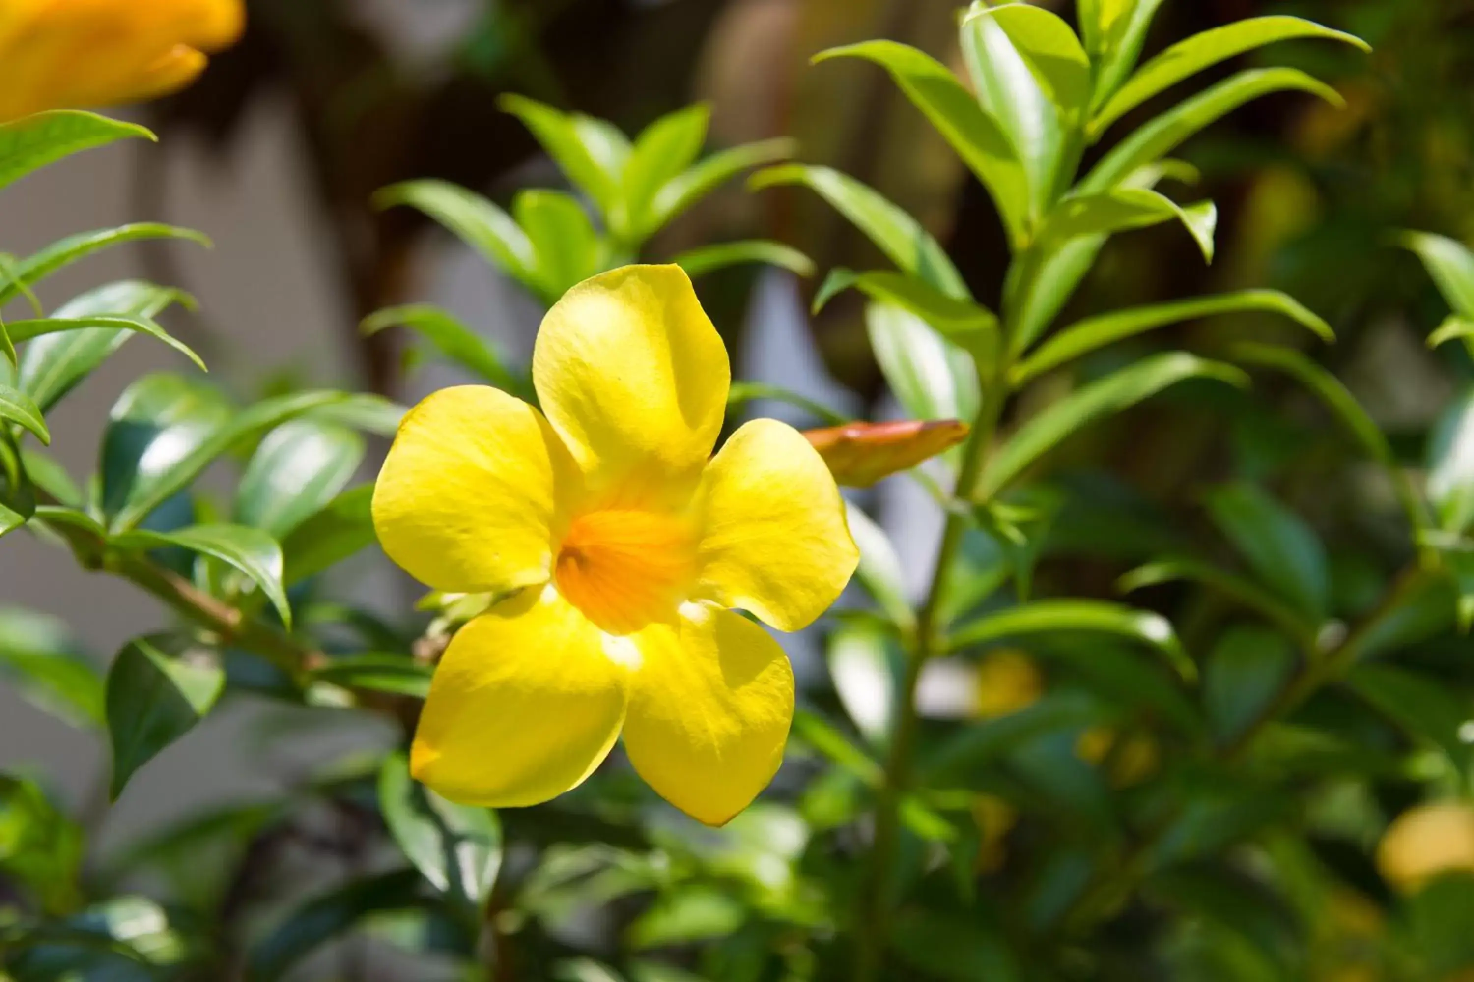
[{"label": "orange throat at the centre of the open yellow flower", "polygon": [[612,635],[669,617],[690,595],[696,539],[690,526],[647,511],[594,511],[569,526],[557,552],[559,592]]}]

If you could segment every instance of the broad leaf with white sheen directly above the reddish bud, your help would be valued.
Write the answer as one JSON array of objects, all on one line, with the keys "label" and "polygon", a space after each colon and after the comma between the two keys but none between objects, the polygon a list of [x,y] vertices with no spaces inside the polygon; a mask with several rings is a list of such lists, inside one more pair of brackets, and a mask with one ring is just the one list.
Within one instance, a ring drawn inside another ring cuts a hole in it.
[{"label": "broad leaf with white sheen directly above the reddish bud", "polygon": [[865,305],[865,328],[890,392],[915,420],[971,420],[982,399],[977,367],[926,321],[890,303]]}]

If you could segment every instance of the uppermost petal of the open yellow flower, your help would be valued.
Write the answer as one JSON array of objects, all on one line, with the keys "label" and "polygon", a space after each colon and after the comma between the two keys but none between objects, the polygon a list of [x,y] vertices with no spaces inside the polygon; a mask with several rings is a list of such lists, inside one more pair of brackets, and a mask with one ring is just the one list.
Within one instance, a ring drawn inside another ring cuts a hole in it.
[{"label": "uppermost petal of the open yellow flower", "polygon": [[721,431],[731,368],[680,266],[625,266],[553,305],[532,380],[600,506],[649,505],[690,490]]}]

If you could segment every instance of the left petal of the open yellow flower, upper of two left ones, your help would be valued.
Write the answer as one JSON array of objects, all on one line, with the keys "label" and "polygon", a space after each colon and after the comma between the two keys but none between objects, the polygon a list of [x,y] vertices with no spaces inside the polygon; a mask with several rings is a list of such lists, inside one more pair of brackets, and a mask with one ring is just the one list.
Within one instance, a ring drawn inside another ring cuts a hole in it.
[{"label": "left petal of the open yellow flower, upper of two left ones", "polygon": [[488,386],[442,389],[411,409],[373,495],[389,558],[438,590],[547,583],[563,521],[554,489],[573,462],[542,415]]}]

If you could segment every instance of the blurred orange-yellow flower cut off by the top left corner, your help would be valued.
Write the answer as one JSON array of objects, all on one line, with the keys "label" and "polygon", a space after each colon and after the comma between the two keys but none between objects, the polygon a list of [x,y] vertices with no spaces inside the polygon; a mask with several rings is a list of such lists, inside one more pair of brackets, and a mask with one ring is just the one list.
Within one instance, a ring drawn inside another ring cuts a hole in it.
[{"label": "blurred orange-yellow flower cut off by the top left corner", "polygon": [[0,122],[171,93],[243,25],[242,0],[0,0]]}]

